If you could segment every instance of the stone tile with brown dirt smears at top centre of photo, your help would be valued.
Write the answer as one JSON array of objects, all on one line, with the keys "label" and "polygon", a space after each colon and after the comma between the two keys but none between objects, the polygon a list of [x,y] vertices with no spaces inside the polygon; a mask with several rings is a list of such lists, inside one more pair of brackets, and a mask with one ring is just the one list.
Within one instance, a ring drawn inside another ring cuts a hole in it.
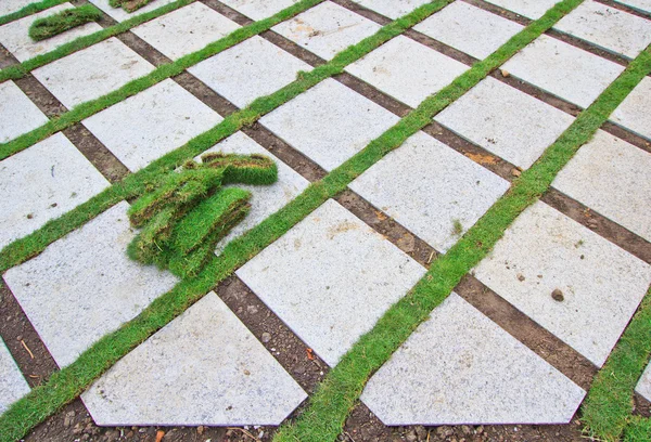
[{"label": "stone tile with brown dirt smears at top centre of photo", "polygon": [[359,14],[326,1],[272,29],[321,58],[332,60],[336,53],[372,36],[380,27]]}]

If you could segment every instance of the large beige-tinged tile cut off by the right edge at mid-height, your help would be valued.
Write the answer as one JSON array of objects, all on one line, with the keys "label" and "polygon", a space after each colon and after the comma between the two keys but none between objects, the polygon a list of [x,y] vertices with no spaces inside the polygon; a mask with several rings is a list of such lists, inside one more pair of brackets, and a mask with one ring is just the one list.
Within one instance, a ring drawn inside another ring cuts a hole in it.
[{"label": "large beige-tinged tile cut off by the right edge at mid-height", "polygon": [[598,131],[552,185],[651,242],[651,154]]}]

